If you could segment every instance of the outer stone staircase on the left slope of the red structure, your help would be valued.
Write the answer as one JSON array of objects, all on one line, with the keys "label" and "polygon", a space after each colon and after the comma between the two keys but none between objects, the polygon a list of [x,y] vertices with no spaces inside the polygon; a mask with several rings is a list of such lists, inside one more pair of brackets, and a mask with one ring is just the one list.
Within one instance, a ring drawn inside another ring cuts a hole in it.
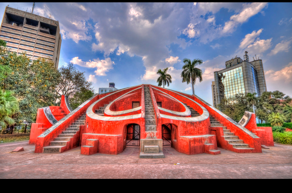
[{"label": "outer stone staircase on the left slope of the red structure", "polygon": [[[62,134],[59,134],[54,141],[50,142],[49,146],[44,147],[44,153],[62,153],[63,151],[68,150],[67,146],[73,147],[74,138],[79,138],[77,132],[79,133],[79,125],[85,125],[86,113],[83,113],[69,128],[66,128],[65,131],[62,131]],[[79,144],[79,143],[78,143]],[[70,149],[69,148],[69,149]]]}]

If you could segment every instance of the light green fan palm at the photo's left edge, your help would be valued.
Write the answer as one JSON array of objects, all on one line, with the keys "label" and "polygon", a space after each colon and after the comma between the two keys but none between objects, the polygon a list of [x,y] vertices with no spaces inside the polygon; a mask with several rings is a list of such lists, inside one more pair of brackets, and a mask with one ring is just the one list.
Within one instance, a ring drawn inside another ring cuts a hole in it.
[{"label": "light green fan palm at the photo's left edge", "polygon": [[0,90],[0,126],[2,127],[1,133],[4,133],[7,126],[12,126],[14,120],[12,115],[19,110],[17,100],[12,96],[11,91]]}]

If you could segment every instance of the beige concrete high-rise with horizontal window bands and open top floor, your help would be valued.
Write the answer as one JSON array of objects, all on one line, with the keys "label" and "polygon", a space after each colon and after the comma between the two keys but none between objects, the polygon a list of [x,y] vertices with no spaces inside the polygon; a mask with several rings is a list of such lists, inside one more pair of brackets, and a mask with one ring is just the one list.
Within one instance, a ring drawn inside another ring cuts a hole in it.
[{"label": "beige concrete high-rise with horizontal window bands and open top floor", "polygon": [[26,52],[31,60],[51,59],[58,68],[61,48],[58,21],[6,7],[0,30],[0,39],[6,41],[10,51]]}]

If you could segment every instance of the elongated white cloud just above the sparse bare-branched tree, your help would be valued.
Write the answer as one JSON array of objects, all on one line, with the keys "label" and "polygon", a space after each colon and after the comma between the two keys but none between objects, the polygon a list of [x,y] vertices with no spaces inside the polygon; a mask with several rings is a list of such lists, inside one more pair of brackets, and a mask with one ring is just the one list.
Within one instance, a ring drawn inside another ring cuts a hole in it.
[{"label": "elongated white cloud just above the sparse bare-branched tree", "polygon": [[87,68],[96,68],[94,72],[98,76],[106,76],[105,73],[110,69],[113,69],[114,64],[114,62],[112,62],[110,58],[105,58],[104,60],[100,60],[99,58],[97,58],[93,59],[93,61],[89,60],[88,62],[84,62],[79,59],[79,57],[74,57],[70,62]]}]

